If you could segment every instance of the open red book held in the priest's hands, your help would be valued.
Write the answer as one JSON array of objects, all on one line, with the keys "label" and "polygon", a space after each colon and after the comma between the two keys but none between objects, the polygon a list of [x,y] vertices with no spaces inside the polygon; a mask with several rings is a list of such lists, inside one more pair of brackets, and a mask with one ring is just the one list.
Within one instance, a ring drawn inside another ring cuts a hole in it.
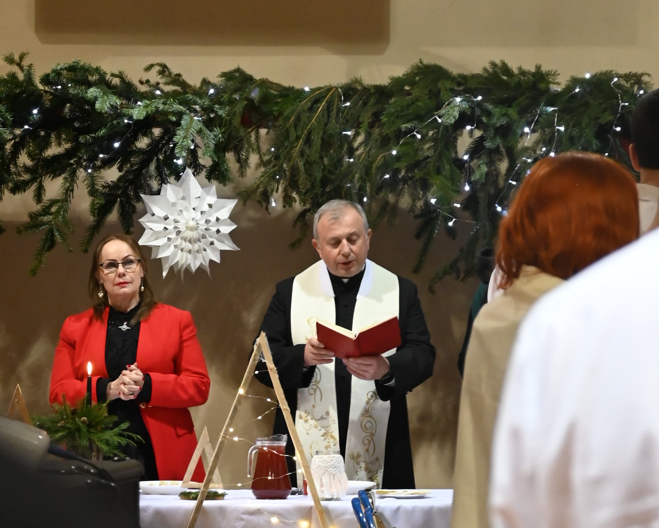
[{"label": "open red book held in the priest's hands", "polygon": [[316,321],[316,335],[325,348],[333,350],[341,359],[377,356],[401,344],[401,329],[395,315],[357,333],[325,321]]}]

